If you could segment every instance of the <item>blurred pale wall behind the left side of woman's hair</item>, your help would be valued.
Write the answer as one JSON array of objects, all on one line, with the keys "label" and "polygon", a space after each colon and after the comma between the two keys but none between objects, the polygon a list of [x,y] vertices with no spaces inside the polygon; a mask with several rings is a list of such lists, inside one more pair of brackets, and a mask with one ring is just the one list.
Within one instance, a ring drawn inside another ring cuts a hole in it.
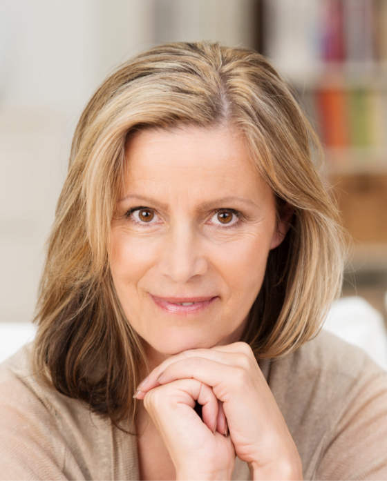
[{"label": "blurred pale wall behind the left side of woman's hair", "polygon": [[160,41],[249,46],[254,0],[0,0],[0,322],[28,322],[82,108]]}]

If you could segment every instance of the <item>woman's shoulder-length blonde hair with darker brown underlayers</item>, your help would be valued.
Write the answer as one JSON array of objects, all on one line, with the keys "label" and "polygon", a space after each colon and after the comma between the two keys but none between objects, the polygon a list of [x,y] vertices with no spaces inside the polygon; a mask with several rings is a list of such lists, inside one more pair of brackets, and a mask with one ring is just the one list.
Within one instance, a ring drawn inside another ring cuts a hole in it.
[{"label": "woman's shoulder-length blonde hair with darker brown underlayers", "polygon": [[75,131],[48,242],[35,321],[35,368],[57,391],[114,424],[135,419],[147,366],[108,263],[126,140],[145,128],[241,130],[277,199],[294,208],[243,335],[258,360],[285,355],[321,327],[341,287],[339,216],[318,170],[319,140],[265,57],[218,43],[169,43],[124,63],[95,92]]}]

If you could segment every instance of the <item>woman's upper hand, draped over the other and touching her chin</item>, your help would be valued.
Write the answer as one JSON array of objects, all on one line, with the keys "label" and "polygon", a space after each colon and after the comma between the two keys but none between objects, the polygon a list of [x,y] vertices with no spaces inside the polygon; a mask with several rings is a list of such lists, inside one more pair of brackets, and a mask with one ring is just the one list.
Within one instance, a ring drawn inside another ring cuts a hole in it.
[{"label": "woman's upper hand, draped over the other and touching her chin", "polygon": [[[249,463],[253,479],[302,479],[299,453],[247,344],[236,342],[211,349],[192,349],[169,357],[140,385],[137,397],[147,398],[152,391],[167,388],[178,380],[195,380],[211,386],[216,398],[223,402],[236,455]],[[192,415],[196,413],[193,409],[189,411],[189,406],[194,406],[192,399],[191,404],[185,404],[185,408],[186,415],[191,416],[189,419],[193,422]],[[162,409],[162,406],[153,407],[153,410],[157,409]],[[212,416],[211,422],[214,424],[215,414]],[[197,433],[195,431],[192,435],[196,436]],[[169,436],[173,437],[173,432]]]}]

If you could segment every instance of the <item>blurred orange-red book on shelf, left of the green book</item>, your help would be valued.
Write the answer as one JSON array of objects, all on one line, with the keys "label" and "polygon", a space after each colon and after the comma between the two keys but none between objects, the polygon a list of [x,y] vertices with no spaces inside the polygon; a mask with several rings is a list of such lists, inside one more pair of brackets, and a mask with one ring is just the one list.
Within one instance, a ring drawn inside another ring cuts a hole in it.
[{"label": "blurred orange-red book on shelf, left of the green book", "polygon": [[327,147],[347,147],[350,135],[346,92],[339,89],[324,89],[318,90],[316,97],[323,143]]}]

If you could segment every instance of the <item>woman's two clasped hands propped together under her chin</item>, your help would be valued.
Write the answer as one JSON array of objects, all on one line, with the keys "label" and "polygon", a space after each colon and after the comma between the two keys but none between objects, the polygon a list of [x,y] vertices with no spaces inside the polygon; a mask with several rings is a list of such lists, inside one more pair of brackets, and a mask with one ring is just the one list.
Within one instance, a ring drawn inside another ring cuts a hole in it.
[{"label": "woman's two clasped hands propped together under her chin", "polygon": [[144,400],[178,480],[230,480],[236,455],[254,480],[302,479],[292,436],[245,342],[173,355],[135,397]]}]

